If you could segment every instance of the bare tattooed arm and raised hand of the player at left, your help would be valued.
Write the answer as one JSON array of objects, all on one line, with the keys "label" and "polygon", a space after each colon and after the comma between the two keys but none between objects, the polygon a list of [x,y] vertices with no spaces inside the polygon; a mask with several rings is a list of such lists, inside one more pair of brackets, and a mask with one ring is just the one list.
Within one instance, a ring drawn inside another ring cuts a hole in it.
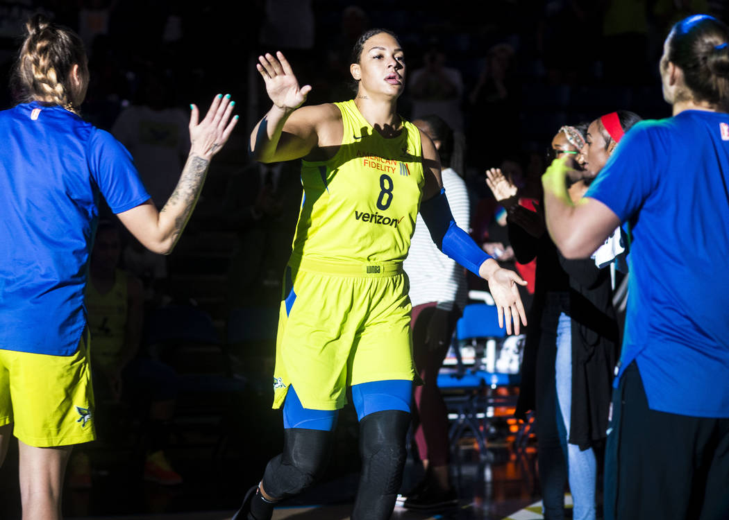
[{"label": "bare tattooed arm and raised hand of the player at left", "polygon": [[238,116],[230,118],[234,104],[230,101],[230,95],[225,98],[217,95],[205,119],[200,122],[198,107],[191,105],[190,155],[167,203],[158,212],[152,200],[147,200],[117,215],[132,235],[150,251],[166,255],[174,249],[198,202],[211,159],[222,149],[238,122]]}]

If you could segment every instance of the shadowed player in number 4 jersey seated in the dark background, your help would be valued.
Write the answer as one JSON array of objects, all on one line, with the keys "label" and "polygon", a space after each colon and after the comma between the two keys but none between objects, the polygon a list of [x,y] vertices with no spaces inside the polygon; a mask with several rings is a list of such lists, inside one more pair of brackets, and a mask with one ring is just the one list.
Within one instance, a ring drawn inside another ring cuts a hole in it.
[{"label": "shadowed player in number 4 jersey seated in the dark background", "polygon": [[[124,401],[143,412],[149,449],[144,479],[159,484],[181,484],[182,477],[165,455],[179,383],[170,367],[140,355],[144,320],[141,281],[120,269],[120,229],[113,221],[100,221],[91,253],[85,304],[93,348],[91,371],[100,437],[109,431],[112,403]],[[90,485],[90,462],[82,450],[70,462],[69,484]]]}]

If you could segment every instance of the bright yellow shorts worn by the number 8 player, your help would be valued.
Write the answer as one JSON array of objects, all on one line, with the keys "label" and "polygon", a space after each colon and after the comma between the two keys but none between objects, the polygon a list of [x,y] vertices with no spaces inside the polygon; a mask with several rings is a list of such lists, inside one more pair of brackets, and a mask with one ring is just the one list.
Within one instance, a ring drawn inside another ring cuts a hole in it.
[{"label": "bright yellow shorts worn by the number 8 player", "polygon": [[336,410],[346,404],[349,385],[413,380],[408,289],[399,262],[289,261],[273,408],[290,385],[304,408]]}]

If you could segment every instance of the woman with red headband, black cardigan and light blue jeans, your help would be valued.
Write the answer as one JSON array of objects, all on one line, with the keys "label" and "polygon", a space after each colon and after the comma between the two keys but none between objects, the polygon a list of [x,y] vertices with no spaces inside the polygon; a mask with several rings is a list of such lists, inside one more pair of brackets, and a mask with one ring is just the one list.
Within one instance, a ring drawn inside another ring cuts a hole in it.
[{"label": "woman with red headband, black cardigan and light blue jeans", "polygon": [[[620,114],[620,115],[619,115]],[[582,144],[567,181],[572,202],[588,190],[596,173],[625,133],[640,117],[628,111],[612,112],[590,123],[584,141],[566,127],[565,135]],[[563,127],[564,128],[564,127]],[[587,170],[591,165],[594,170]],[[620,228],[615,240],[620,240]],[[612,247],[607,244],[604,247]],[[561,314],[558,330],[569,331],[571,348],[558,342],[555,360],[558,408],[564,424],[569,487],[575,520],[596,518],[596,452],[604,446],[609,416],[612,371],[620,350],[620,334],[612,304],[612,277],[609,262],[596,265],[593,259],[568,260],[558,254],[569,275],[569,316]]]}]

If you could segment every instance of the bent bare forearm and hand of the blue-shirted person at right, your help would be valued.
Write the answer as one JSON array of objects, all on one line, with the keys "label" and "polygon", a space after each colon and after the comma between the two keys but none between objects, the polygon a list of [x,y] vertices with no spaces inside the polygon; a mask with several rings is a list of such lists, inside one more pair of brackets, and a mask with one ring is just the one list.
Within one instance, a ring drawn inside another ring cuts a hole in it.
[{"label": "bent bare forearm and hand of the blue-shirted person at right", "polygon": [[566,184],[570,170],[566,159],[555,159],[542,176],[547,230],[566,259],[587,258],[620,226],[620,218],[590,197],[574,204]]}]

